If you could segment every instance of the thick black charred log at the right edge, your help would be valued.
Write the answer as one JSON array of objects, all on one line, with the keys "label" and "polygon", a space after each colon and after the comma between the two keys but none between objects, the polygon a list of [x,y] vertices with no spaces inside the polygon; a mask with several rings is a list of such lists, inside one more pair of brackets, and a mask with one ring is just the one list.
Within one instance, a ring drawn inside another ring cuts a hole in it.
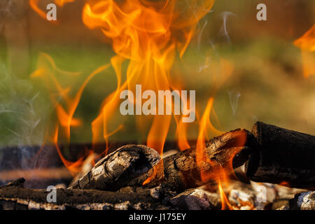
[{"label": "thick black charred log at the right edge", "polygon": [[314,136],[261,122],[255,123],[252,133],[259,144],[246,164],[252,181],[315,187]]}]

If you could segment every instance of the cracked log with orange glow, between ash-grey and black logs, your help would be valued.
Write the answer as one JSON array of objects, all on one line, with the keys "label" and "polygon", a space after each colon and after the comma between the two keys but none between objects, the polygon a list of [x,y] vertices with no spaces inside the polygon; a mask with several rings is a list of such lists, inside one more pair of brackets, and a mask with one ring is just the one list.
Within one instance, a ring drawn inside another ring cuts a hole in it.
[{"label": "cracked log with orange glow, between ash-grey and black logs", "polygon": [[[163,169],[151,169],[130,183],[130,186],[141,186],[148,177],[148,188],[166,184],[174,190],[185,190],[202,186],[217,179],[219,170],[232,172],[232,168],[240,167],[248,160],[256,142],[253,135],[246,130],[234,130],[211,139],[203,149],[207,161],[196,162],[196,148],[176,153],[163,159]],[[209,162],[211,161],[211,162]],[[230,167],[232,165],[232,167]],[[200,173],[207,172],[210,178],[202,180]]]}]

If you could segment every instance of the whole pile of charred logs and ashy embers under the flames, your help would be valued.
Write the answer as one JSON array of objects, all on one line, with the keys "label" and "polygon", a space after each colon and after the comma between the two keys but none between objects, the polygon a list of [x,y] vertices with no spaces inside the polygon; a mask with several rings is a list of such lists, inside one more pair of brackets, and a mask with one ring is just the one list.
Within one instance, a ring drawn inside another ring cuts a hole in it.
[{"label": "whole pile of charred logs and ashy embers under the flames", "polygon": [[[57,202],[18,179],[0,187],[0,209],[315,209],[309,191],[315,188],[314,136],[258,122],[251,132],[211,139],[202,155],[197,161],[194,147],[161,159],[147,146],[123,146],[69,188],[57,189]],[[241,181],[234,175],[239,167]],[[217,186],[222,171],[234,179],[223,186],[223,202]]]}]

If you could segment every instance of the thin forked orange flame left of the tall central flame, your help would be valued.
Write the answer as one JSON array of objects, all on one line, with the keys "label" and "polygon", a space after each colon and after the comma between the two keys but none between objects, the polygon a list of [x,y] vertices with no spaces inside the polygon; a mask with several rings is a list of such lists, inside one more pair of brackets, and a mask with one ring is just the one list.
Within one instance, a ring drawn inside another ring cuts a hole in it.
[{"label": "thin forked orange flame left of the tall central flame", "polygon": [[50,100],[52,106],[55,107],[57,116],[57,125],[54,127],[55,131],[48,135],[52,136],[52,143],[55,144],[62,162],[73,175],[80,172],[83,158],[80,158],[77,162],[67,161],[59,149],[58,139],[60,135],[62,135],[66,142],[70,142],[71,127],[78,127],[82,124],[82,120],[73,118],[73,116],[80,102],[83,90],[94,76],[106,70],[108,67],[109,64],[106,64],[93,71],[90,76],[85,79],[75,94],[71,92],[71,84],[65,85],[64,83],[61,83],[57,79],[57,76],[77,77],[80,73],[71,73],[58,69],[52,57],[45,53],[40,54],[37,69],[31,74],[31,78],[40,78],[43,80],[43,83],[45,83],[45,87],[48,88]]}]

